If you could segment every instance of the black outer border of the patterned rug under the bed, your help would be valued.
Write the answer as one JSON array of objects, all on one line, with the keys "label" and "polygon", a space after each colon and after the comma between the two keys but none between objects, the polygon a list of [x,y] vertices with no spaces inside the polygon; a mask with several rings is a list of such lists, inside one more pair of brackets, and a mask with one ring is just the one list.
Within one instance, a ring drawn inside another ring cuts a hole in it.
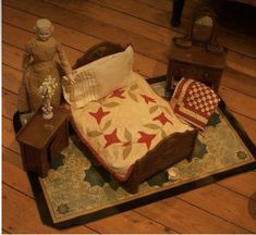
[{"label": "black outer border of the patterned rug under the bed", "polygon": [[[154,83],[159,83],[159,82],[164,82],[164,81],[166,81],[166,76],[159,76],[159,77],[150,78],[147,82],[149,84],[154,84]],[[244,145],[251,151],[254,159],[256,159],[256,147],[254,146],[253,141],[249,139],[248,135],[245,133],[245,131],[243,129],[241,124],[229,112],[229,110],[227,109],[227,106],[224,104],[223,101],[221,101],[219,108],[220,108],[221,112],[223,112],[224,116],[230,122],[230,124],[233,126],[233,128],[235,129],[235,132],[237,133],[237,135],[240,136],[242,141],[244,143]],[[53,223],[53,220],[50,215],[50,211],[47,206],[46,198],[44,197],[42,188],[40,186],[40,183],[39,183],[37,175],[35,173],[31,173],[31,172],[28,172],[27,175],[28,175],[29,182],[32,184],[33,193],[35,195],[37,208],[39,210],[39,214],[40,214],[42,223],[50,225],[52,227],[56,227],[56,228],[65,228],[65,227],[70,227],[73,225],[81,225],[81,224],[85,224],[85,223],[88,223],[92,221],[96,221],[96,220],[99,220],[99,219],[102,219],[102,218],[106,218],[109,215],[113,215],[113,214],[117,214],[117,213],[120,213],[120,212],[123,212],[126,210],[132,210],[134,208],[142,207],[144,205],[147,205],[147,203],[160,200],[160,199],[164,199],[164,198],[178,195],[178,194],[182,194],[182,193],[188,191],[191,189],[196,189],[202,186],[205,186],[205,185],[215,183],[217,181],[220,181],[222,178],[225,178],[228,176],[232,176],[232,175],[243,173],[246,171],[251,171],[254,169],[256,169],[256,162],[251,162],[245,165],[228,170],[225,172],[216,173],[214,175],[206,176],[206,177],[197,180],[195,182],[185,183],[185,184],[176,186],[174,188],[168,188],[166,190],[158,191],[158,193],[155,193],[153,195],[148,195],[143,198],[137,198],[132,201],[126,201],[126,202],[123,202],[123,203],[114,206],[114,207],[109,207],[109,208],[102,209],[98,212],[93,212],[93,213],[89,213],[86,215],[80,215],[80,217],[76,217],[76,218],[71,219],[69,221],[58,222],[58,223]]]}]

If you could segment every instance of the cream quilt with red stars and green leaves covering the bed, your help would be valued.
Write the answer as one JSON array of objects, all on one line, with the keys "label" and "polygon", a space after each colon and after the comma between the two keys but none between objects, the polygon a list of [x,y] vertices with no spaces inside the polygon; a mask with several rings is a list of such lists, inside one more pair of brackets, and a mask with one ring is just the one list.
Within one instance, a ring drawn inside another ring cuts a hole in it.
[{"label": "cream quilt with red stars and green leaves covering the bed", "polygon": [[192,129],[142,76],[132,76],[129,86],[82,109],[71,107],[81,139],[120,181],[125,181],[135,161],[163,138]]}]

